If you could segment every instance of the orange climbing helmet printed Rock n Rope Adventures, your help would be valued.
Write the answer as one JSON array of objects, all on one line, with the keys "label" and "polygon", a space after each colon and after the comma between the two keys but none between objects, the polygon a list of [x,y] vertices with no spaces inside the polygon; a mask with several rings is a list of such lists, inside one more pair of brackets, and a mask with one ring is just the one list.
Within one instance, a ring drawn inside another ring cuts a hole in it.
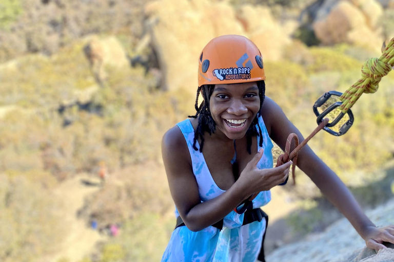
[{"label": "orange climbing helmet printed Rock n Rope Adventures", "polygon": [[213,38],[201,52],[199,86],[265,80],[261,52],[241,35]]}]

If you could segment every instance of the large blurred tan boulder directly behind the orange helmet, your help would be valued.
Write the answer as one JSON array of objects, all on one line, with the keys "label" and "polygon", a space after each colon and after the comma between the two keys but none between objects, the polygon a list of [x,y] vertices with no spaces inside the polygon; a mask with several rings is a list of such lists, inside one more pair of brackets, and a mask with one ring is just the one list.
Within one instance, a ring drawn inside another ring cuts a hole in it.
[{"label": "large blurred tan boulder directly behind the orange helmet", "polygon": [[200,52],[216,36],[244,35],[270,60],[280,59],[282,47],[290,43],[288,30],[262,7],[243,6],[238,11],[226,1],[158,0],[148,4],[145,13],[169,90],[186,88],[194,94]]}]

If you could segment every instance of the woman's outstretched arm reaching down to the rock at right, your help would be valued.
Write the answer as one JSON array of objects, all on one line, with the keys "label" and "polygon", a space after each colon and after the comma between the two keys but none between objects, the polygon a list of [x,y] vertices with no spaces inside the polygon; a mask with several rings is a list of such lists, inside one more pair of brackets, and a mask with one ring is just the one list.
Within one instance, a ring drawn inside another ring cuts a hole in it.
[{"label": "woman's outstretched arm reaching down to the rock at right", "polygon": [[[262,108],[264,117],[271,123],[271,138],[282,150],[286,145],[287,136],[297,134],[300,142],[304,140],[300,131],[287,119],[282,109],[271,99],[266,99]],[[316,184],[327,199],[342,212],[354,229],[366,242],[376,226],[368,219],[353,195],[338,176],[306,145],[299,153],[297,166]],[[394,241],[388,236],[385,241]],[[368,245],[368,243],[367,243]],[[381,249],[383,245],[369,243],[368,247]]]}]

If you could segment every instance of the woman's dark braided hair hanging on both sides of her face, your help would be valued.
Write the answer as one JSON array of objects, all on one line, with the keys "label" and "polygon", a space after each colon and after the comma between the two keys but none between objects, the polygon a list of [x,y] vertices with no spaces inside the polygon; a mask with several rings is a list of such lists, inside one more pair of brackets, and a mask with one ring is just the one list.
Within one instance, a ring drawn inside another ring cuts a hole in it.
[{"label": "woman's dark braided hair hanging on both sides of her face", "polygon": [[[264,98],[265,98],[265,82],[264,80],[258,81],[257,86],[259,88],[259,97],[260,97],[260,109],[261,106],[263,105]],[[202,86],[199,86],[197,89],[197,96],[195,98],[195,115],[194,116],[189,116],[191,118],[198,118],[199,123],[197,125],[197,128],[194,130],[194,139],[193,139],[193,148],[194,150],[198,151],[199,148],[195,146],[197,143],[198,139],[201,139],[201,145],[200,145],[200,152],[203,151],[203,146],[204,146],[204,133],[208,132],[209,135],[212,135],[212,133],[215,132],[216,128],[216,123],[213,120],[211,113],[209,111],[209,99],[213,93],[214,85],[213,84],[205,84]],[[202,91],[202,92],[201,92]],[[201,102],[199,106],[199,96],[200,92],[202,93],[202,96],[204,98],[204,101]],[[260,136],[260,147],[263,146],[263,135],[261,132],[261,127],[259,125],[259,117],[260,117],[260,110],[253,119],[252,123],[250,124],[247,132],[246,132],[246,149],[249,152],[249,155],[251,155],[251,145],[252,145],[252,136],[257,136],[259,134]],[[259,128],[259,130],[258,130]]]}]

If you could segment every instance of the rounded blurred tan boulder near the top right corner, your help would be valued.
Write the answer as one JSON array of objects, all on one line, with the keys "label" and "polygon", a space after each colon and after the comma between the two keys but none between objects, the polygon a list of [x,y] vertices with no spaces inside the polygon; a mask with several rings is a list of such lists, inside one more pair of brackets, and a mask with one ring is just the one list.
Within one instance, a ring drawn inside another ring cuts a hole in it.
[{"label": "rounded blurred tan boulder near the top right corner", "polygon": [[383,41],[377,28],[382,14],[382,6],[375,0],[327,0],[313,30],[325,45],[347,42],[378,50]]}]

